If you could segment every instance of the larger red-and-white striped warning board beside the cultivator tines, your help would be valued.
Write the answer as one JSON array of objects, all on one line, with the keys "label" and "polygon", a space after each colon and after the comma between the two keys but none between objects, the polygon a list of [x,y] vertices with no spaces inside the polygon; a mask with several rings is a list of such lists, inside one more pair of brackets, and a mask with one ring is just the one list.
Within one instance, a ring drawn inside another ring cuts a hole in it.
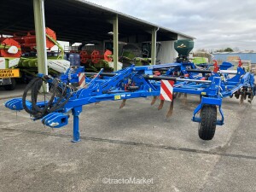
[{"label": "larger red-and-white striped warning board beside the cultivator tines", "polygon": [[172,80],[161,80],[160,100],[172,102],[173,85]]}]

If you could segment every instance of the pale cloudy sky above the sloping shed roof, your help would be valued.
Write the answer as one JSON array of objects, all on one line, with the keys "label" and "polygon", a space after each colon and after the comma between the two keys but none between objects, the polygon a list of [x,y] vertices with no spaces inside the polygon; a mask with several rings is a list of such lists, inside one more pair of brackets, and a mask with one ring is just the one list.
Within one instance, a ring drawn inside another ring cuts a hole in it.
[{"label": "pale cloudy sky above the sloping shed roof", "polygon": [[89,0],[196,38],[195,49],[256,51],[256,0]]}]

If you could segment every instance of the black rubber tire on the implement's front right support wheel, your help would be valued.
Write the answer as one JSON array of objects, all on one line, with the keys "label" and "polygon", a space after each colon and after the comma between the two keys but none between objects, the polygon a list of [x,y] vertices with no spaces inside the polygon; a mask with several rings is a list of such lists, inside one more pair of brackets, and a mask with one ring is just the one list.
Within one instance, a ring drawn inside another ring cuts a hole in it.
[{"label": "black rubber tire on the implement's front right support wheel", "polygon": [[216,130],[217,108],[214,105],[204,105],[201,108],[201,123],[198,135],[202,140],[212,140]]}]

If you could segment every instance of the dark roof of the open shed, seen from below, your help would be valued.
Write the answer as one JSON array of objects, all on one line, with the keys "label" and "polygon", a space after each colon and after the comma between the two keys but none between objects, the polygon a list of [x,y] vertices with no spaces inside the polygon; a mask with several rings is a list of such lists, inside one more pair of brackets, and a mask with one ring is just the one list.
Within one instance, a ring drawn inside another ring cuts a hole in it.
[{"label": "dark roof of the open shed, seen from below", "polygon": [[[84,0],[45,1],[46,26],[56,32],[58,40],[90,43],[111,39],[108,32],[113,31],[111,20],[114,15],[119,15],[120,39],[134,35],[137,41],[151,41],[152,27],[160,27],[158,41],[176,40],[178,34],[193,38]],[[32,1],[1,3],[0,34],[33,29]]]}]

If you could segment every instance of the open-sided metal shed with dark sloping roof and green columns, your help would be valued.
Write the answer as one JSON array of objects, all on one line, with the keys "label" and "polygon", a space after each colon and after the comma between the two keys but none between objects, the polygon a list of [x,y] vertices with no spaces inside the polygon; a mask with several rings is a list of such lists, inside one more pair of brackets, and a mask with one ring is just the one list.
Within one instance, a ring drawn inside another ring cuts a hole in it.
[{"label": "open-sided metal shed with dark sloping roof and green columns", "polygon": [[[84,0],[4,1],[1,3],[0,34],[11,35],[17,31],[33,30],[36,26],[37,36],[42,36],[44,30],[41,28],[45,27],[44,15],[45,26],[55,30],[58,40],[73,44],[112,38],[115,48],[113,53],[114,66],[117,65],[118,60],[118,49],[116,48],[119,40],[128,43],[151,41],[152,61],[154,63],[156,41],[166,42],[163,49],[168,49],[169,46],[172,46],[172,42],[178,38],[194,39],[186,34]],[[108,32],[113,32],[113,37],[110,37]],[[44,43],[42,37],[37,37],[38,43],[40,40]],[[38,46],[44,46],[43,43],[38,44]],[[164,53],[160,56],[167,59],[168,57],[169,59],[172,58],[175,50],[169,48],[168,51],[173,52],[169,55]],[[43,53],[38,53],[39,65],[41,65],[39,58],[44,56]],[[45,59],[41,61],[45,62]]]}]

